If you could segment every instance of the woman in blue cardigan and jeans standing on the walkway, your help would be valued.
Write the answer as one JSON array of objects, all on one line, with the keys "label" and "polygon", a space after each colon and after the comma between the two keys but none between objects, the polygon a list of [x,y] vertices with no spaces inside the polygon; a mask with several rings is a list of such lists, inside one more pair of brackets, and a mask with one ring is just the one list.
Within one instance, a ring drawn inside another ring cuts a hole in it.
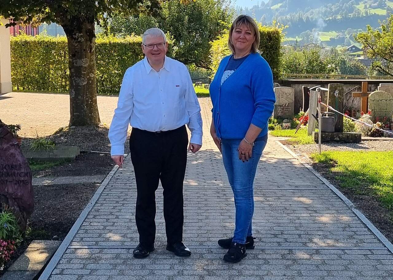
[{"label": "woman in blue cardigan and jeans standing on the walkway", "polygon": [[251,17],[241,15],[235,19],[228,44],[232,55],[222,59],[210,85],[210,133],[222,153],[236,208],[233,238],[218,243],[229,249],[225,261],[240,262],[246,249],[254,248],[253,182],[268,139],[275,95],[272,70],[259,54],[259,29]]}]

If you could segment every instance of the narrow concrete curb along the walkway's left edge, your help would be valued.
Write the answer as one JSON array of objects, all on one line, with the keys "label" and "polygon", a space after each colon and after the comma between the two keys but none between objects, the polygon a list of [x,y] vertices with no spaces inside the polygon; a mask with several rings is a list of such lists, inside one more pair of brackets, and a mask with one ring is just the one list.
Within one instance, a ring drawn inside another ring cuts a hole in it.
[{"label": "narrow concrete curb along the walkway's left edge", "polygon": [[104,181],[101,183],[101,185],[99,186],[97,191],[94,193],[92,199],[90,199],[89,203],[86,205],[86,207],[83,209],[83,211],[79,215],[78,219],[73,224],[73,226],[70,229],[70,231],[68,232],[66,238],[64,238],[64,240],[60,244],[59,248],[57,249],[55,254],[52,256],[50,262],[48,263],[48,265],[46,266],[45,270],[42,272],[42,274],[40,275],[40,278],[38,278],[38,280],[48,280],[53,269],[55,269],[57,263],[59,262],[59,260],[63,256],[64,252],[67,250],[68,246],[70,245],[75,234],[77,233],[77,231],[81,227],[84,219],[86,219],[88,213],[93,208],[94,204],[97,202],[97,200],[100,197],[101,193],[103,192],[104,188],[107,186],[108,182],[110,181],[112,176],[116,173],[118,168],[119,167],[117,165],[114,166],[112,171],[110,171],[109,174],[107,175],[107,177],[105,177]]}]

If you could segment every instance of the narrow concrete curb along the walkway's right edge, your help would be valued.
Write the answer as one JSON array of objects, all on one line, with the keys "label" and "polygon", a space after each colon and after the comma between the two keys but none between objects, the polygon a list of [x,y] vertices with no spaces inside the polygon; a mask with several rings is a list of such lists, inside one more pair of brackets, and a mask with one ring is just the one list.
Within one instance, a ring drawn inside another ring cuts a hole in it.
[{"label": "narrow concrete curb along the walkway's right edge", "polygon": [[369,230],[371,230],[371,232],[373,232],[373,234],[375,234],[375,236],[386,246],[386,248],[393,253],[393,244],[390,243],[389,240],[387,240],[387,238],[382,234],[382,232],[380,232],[374,225],[373,223],[371,223],[369,221],[369,219],[367,219],[362,212],[360,212],[358,209],[355,208],[354,204],[345,196],[343,195],[342,192],[340,192],[335,186],[333,186],[327,179],[325,179],[320,173],[318,173],[318,171],[316,171],[314,168],[312,168],[309,164],[307,164],[306,162],[303,162],[303,160],[301,160],[298,155],[296,155],[294,152],[292,152],[288,147],[286,147],[284,144],[282,144],[281,142],[279,142],[278,140],[275,140],[277,142],[277,144],[279,144],[281,147],[283,147],[283,149],[285,149],[285,151],[287,151],[288,153],[290,153],[294,158],[296,158],[297,160],[299,160],[299,162],[301,164],[303,164],[303,166],[305,166],[307,169],[309,169],[316,177],[318,177],[323,183],[325,183],[326,186],[328,186],[334,193],[336,193],[336,195],[338,195],[338,197],[340,197],[340,199],[342,199],[342,201],[347,204],[347,206],[349,208],[351,208],[352,212],[366,225],[367,228],[369,228]]}]

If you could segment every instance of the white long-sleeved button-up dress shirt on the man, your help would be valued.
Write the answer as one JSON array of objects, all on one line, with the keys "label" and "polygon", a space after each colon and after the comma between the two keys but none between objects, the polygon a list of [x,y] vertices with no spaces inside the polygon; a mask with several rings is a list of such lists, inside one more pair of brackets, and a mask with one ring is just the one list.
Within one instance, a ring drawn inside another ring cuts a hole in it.
[{"label": "white long-sleeved button-up dress shirt on the man", "polygon": [[111,155],[123,155],[128,124],[146,131],[168,131],[187,124],[193,144],[202,145],[202,117],[187,67],[165,56],[156,72],[145,57],[128,68],[108,137]]}]

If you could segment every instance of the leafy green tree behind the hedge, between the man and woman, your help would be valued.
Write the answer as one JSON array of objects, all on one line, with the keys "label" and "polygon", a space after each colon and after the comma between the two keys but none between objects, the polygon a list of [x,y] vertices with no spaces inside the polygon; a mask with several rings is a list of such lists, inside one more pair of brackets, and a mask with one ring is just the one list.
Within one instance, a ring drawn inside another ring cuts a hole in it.
[{"label": "leafy green tree behind the hedge, between the man and woman", "polygon": [[118,15],[110,20],[110,32],[115,35],[142,34],[159,27],[169,33],[174,59],[203,68],[210,65],[210,44],[228,28],[234,11],[226,0],[195,0],[182,4],[169,0],[162,4],[159,17]]}]

